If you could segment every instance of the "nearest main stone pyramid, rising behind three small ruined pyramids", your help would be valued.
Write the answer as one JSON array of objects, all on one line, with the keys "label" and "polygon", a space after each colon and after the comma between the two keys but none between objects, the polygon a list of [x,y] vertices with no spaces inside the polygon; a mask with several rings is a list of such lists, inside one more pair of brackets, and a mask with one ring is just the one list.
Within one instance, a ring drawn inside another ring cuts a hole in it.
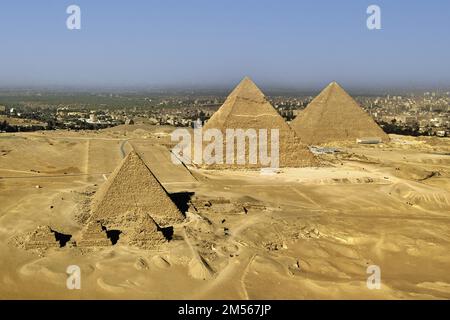
[{"label": "nearest main stone pyramid, rising behind three small ruined pyramids", "polygon": [[108,228],[127,223],[130,212],[142,212],[166,226],[184,216],[135,151],[131,151],[95,195],[92,219]]}]

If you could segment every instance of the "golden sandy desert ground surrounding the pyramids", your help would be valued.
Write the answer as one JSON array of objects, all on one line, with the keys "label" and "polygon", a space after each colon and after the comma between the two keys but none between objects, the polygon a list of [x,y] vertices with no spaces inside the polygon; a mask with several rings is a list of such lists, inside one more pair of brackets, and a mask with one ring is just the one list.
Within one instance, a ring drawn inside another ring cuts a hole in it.
[{"label": "golden sandy desert ground surrounding the pyramids", "polygon": [[[449,139],[340,146],[322,157],[327,166],[267,176],[172,165],[167,132],[1,134],[0,298],[450,298]],[[170,242],[155,250],[120,240],[92,250],[14,245],[38,225],[77,239],[85,191],[132,147],[169,192],[193,198],[196,210]],[[81,268],[81,290],[66,287],[69,265]],[[367,288],[370,265],[381,268],[379,290]]]}]

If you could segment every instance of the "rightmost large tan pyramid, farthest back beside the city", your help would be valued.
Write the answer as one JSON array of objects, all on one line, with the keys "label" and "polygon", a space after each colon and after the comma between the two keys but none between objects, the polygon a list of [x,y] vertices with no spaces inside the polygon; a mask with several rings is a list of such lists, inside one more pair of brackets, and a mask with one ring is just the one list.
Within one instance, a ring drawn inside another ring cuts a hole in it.
[{"label": "rightmost large tan pyramid, farthest back beside the city", "polygon": [[314,98],[292,121],[291,127],[307,144],[355,142],[358,138],[389,141],[389,136],[372,117],[336,82]]}]

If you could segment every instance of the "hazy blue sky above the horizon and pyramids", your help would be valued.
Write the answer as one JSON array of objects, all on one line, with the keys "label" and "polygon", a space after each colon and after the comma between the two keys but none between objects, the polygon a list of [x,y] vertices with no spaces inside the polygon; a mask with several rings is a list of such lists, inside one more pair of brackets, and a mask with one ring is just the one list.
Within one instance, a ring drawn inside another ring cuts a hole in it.
[{"label": "hazy blue sky above the horizon and pyramids", "polygon": [[449,35],[444,0],[1,0],[0,87],[449,88]]}]

